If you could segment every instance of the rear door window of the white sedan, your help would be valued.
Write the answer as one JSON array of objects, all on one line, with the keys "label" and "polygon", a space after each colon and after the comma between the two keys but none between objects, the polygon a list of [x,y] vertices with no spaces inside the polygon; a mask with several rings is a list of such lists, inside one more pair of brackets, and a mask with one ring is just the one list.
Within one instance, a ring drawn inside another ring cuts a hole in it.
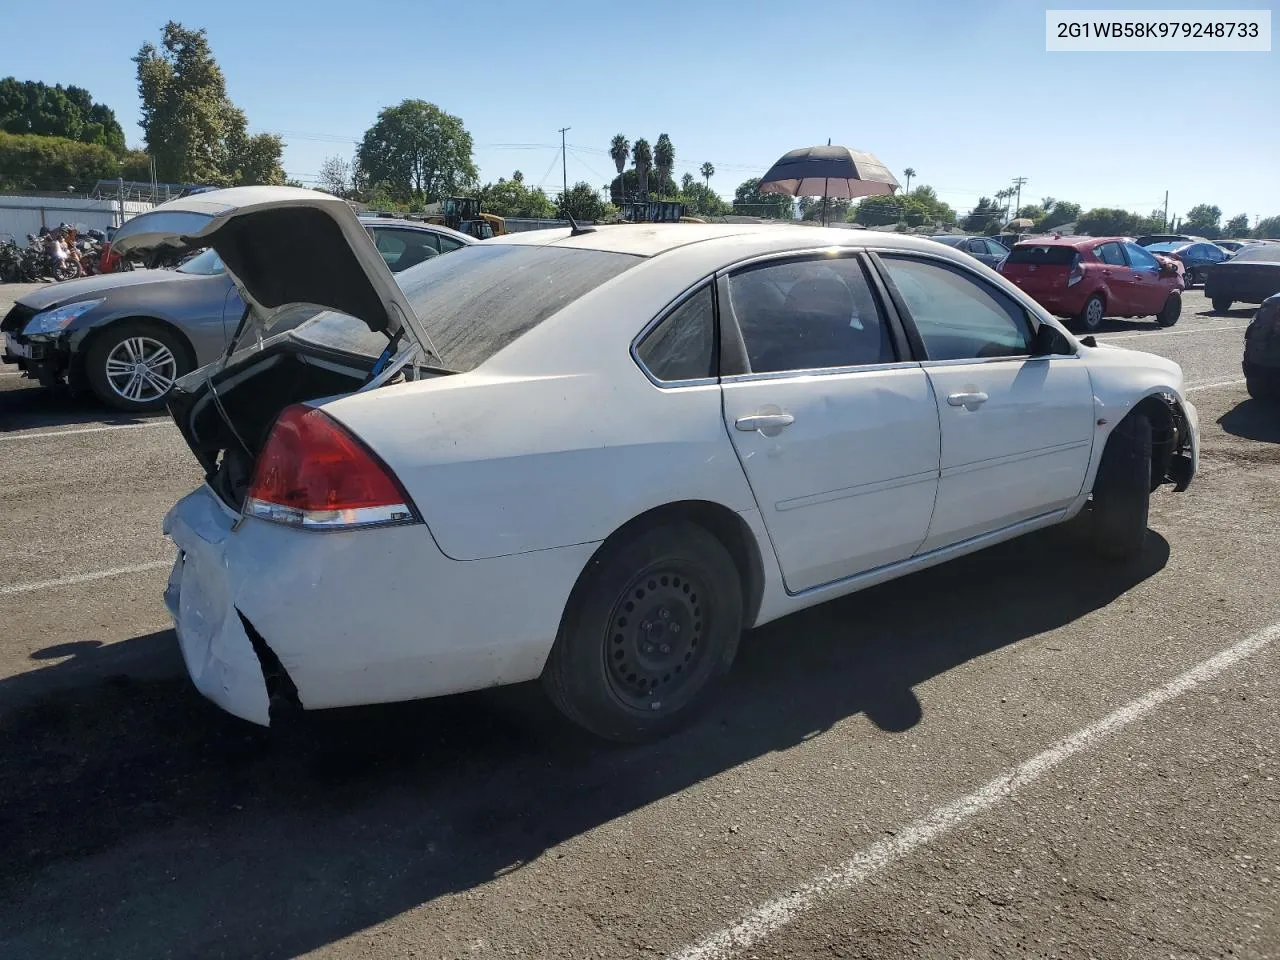
[{"label": "rear door window of the white sedan", "polygon": [[751,372],[892,364],[888,326],[861,264],[792,260],[730,276]]}]

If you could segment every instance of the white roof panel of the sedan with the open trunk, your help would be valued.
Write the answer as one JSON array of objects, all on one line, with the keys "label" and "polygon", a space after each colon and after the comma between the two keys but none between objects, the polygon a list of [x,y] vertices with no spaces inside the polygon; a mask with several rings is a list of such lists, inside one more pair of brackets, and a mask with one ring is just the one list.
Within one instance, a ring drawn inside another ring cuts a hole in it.
[{"label": "white roof panel of the sedan with the open trunk", "polygon": [[804,227],[786,221],[733,223],[733,224],[602,224],[588,233],[573,236],[567,228],[550,230],[525,230],[480,241],[494,244],[557,246],[576,250],[595,250],[609,253],[654,257],[691,243],[727,239],[730,237],[756,237],[776,241],[778,250],[805,247],[881,247],[932,251],[937,246],[928,237],[901,236],[868,230],[844,230],[835,227]]}]

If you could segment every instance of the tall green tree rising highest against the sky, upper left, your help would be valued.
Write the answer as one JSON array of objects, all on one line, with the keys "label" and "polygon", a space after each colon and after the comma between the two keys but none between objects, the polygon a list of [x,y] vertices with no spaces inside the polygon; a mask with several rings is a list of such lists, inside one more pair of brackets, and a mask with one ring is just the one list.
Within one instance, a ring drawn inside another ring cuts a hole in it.
[{"label": "tall green tree rising highest against the sky, upper left", "polygon": [[183,183],[280,183],[283,143],[248,136],[244,113],[227,96],[227,81],[204,29],[170,20],[160,47],[143,44],[133,58],[142,97],[142,131],[160,179]]}]

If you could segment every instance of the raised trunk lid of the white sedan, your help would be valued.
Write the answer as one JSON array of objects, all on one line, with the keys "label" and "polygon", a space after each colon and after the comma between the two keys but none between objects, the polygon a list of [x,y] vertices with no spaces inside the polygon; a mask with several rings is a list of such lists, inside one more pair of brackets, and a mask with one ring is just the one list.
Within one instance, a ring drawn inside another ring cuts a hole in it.
[{"label": "raised trunk lid of the white sedan", "polygon": [[161,204],[127,220],[118,253],[212,247],[248,305],[230,353],[268,335],[297,305],[334,310],[388,339],[435,351],[356,211],[338,197],[297,187],[232,187]]}]

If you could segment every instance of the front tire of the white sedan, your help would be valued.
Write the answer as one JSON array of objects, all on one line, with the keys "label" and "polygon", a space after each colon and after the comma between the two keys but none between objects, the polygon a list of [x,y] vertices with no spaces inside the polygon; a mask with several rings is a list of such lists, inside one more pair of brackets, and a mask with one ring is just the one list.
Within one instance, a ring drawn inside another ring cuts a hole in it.
[{"label": "front tire of the white sedan", "polygon": [[1130,413],[1107,438],[1089,504],[1094,548],[1114,561],[1130,561],[1147,543],[1151,508],[1151,421]]}]

